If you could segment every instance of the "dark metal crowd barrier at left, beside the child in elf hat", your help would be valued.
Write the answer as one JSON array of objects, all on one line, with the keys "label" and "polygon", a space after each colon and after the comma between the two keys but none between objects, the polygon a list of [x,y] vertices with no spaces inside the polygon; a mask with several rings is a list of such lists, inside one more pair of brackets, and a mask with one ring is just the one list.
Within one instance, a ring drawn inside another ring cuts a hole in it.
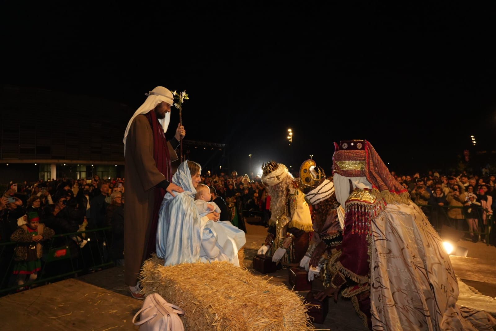
[{"label": "dark metal crowd barrier at left, beside the child in elf hat", "polygon": [[[15,247],[18,243],[15,241],[0,243],[0,296],[20,287],[30,287],[72,275],[77,277],[78,274],[87,274],[114,265],[114,262],[110,261],[109,241],[105,233],[111,229],[111,227],[102,227],[62,233],[44,240],[42,269],[38,272],[36,280],[27,281],[22,285],[17,285],[16,275],[12,274]],[[83,239],[86,243],[81,247]],[[16,285],[12,285],[13,282]]]}]

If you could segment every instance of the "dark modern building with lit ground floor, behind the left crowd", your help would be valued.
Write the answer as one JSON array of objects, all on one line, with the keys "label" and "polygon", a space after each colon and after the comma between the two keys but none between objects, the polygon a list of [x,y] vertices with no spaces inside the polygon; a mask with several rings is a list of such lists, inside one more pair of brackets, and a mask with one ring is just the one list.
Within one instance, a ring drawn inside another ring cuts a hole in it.
[{"label": "dark modern building with lit ground floor, behind the left crowd", "polygon": [[0,182],[124,176],[124,130],[134,112],[114,101],[1,86]]}]

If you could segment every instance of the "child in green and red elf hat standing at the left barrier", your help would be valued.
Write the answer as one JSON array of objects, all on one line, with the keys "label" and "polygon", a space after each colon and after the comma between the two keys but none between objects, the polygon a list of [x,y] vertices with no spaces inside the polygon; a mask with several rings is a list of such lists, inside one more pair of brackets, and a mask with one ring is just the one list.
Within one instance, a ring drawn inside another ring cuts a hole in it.
[{"label": "child in green and red elf hat standing at the left barrier", "polygon": [[[55,231],[40,224],[38,213],[27,215],[27,224],[23,224],[12,233],[10,240],[17,242],[14,255],[13,274],[17,275],[17,284],[23,285],[29,278],[34,281],[41,270],[41,256],[43,247],[41,242],[52,237]],[[18,291],[21,288],[18,288]]]}]

